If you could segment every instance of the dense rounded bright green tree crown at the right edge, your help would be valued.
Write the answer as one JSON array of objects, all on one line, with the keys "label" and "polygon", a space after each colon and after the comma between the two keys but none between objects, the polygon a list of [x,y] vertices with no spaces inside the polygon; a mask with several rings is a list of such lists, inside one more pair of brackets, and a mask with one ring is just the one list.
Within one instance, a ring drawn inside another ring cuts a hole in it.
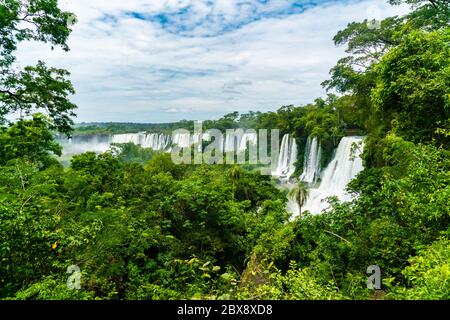
[{"label": "dense rounded bright green tree crown at the right edge", "polygon": [[450,145],[436,134],[450,118],[450,28],[411,32],[376,65],[372,101],[387,129],[414,142]]}]

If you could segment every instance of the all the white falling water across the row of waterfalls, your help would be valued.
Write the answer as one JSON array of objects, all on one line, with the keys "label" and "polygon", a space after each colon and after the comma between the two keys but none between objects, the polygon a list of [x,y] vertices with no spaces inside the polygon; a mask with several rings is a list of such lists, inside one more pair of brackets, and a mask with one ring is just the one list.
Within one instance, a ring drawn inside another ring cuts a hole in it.
[{"label": "all the white falling water across the row of waterfalls", "polygon": [[[170,147],[176,144],[180,147],[189,147],[192,144],[199,144],[201,140],[208,141],[207,133],[200,134],[175,134],[173,139],[169,135],[161,133],[130,133],[117,134],[113,136],[92,135],[76,136],[73,139],[58,139],[63,145],[65,156],[83,153],[86,151],[105,152],[109,149],[111,143],[135,143],[145,148],[152,148],[158,151],[170,152]],[[236,136],[226,134],[221,138],[221,145],[226,151],[245,151],[247,144],[257,144],[258,136],[254,132],[242,132]],[[353,144],[360,144],[356,148],[352,159]],[[304,172],[300,180],[309,184],[314,184],[321,177],[320,185],[310,189],[310,195],[302,211],[309,210],[311,213],[320,213],[329,207],[326,198],[337,196],[340,201],[349,201],[352,199],[345,189],[347,184],[363,170],[360,154],[363,149],[363,137],[344,137],[342,138],[336,150],[335,156],[329,165],[321,172],[320,157],[322,149],[320,141],[317,138],[308,138],[305,148]],[[280,154],[278,156],[277,167],[272,175],[279,178],[284,188],[291,189],[294,184],[289,184],[289,179],[295,172],[295,162],[297,161],[297,143],[289,134],[283,136]],[[298,205],[291,199],[288,201],[288,210],[298,215]]]}]

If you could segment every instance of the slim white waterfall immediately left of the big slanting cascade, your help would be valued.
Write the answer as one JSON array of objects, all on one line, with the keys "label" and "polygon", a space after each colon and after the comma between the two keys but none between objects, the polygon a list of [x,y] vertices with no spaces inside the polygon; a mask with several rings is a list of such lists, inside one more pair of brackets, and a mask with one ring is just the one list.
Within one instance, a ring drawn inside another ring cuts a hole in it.
[{"label": "slim white waterfall immediately left of the big slanting cascade", "polygon": [[320,158],[322,147],[317,137],[308,137],[303,160],[303,173],[300,180],[309,184],[317,182],[320,177]]}]

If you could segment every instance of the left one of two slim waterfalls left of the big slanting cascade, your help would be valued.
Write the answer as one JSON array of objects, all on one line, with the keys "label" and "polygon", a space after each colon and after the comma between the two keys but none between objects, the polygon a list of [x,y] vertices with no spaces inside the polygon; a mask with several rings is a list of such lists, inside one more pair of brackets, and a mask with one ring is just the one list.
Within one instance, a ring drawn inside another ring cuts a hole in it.
[{"label": "left one of two slim waterfalls left of the big slanting cascade", "polygon": [[277,168],[272,172],[272,176],[288,180],[295,171],[296,161],[297,143],[294,138],[289,137],[289,134],[285,134],[281,141]]}]

